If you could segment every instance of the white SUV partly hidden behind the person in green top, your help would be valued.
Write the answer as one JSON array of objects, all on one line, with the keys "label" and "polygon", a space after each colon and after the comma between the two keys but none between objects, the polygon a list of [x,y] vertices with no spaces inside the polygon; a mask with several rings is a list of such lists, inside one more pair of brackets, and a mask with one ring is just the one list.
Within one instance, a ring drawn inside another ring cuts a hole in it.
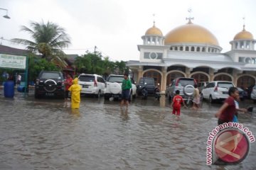
[{"label": "white SUV partly hidden behind the person in green top", "polygon": [[[122,81],[124,79],[123,75],[110,74],[106,81],[105,87],[105,99],[113,98],[121,98],[122,97]],[[130,91],[129,100],[132,100],[132,97],[136,97],[136,85],[132,81],[132,89]]]}]

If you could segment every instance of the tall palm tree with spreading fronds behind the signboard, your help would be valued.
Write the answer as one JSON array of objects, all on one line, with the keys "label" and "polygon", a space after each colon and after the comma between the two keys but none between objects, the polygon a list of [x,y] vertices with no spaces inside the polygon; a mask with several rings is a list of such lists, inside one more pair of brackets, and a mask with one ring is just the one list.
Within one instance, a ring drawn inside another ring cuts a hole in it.
[{"label": "tall palm tree with spreading fronds behind the signboard", "polygon": [[21,38],[12,39],[16,43],[28,45],[26,49],[39,52],[42,57],[50,61],[55,57],[63,57],[63,47],[68,47],[70,38],[65,33],[65,29],[55,23],[30,23],[31,28],[21,26],[22,31],[28,32],[34,41]]}]

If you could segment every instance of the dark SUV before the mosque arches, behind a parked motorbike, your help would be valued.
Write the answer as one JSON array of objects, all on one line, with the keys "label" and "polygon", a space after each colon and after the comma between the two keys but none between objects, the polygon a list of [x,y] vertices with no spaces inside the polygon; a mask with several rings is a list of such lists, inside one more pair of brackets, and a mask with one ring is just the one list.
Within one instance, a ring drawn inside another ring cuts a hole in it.
[{"label": "dark SUV before the mosque arches, behind a parked motorbike", "polygon": [[146,91],[148,94],[154,94],[155,91],[155,84],[154,84],[154,78],[149,77],[142,77],[139,79],[139,84],[137,85],[137,94],[140,96],[142,95],[142,89],[146,87]]}]

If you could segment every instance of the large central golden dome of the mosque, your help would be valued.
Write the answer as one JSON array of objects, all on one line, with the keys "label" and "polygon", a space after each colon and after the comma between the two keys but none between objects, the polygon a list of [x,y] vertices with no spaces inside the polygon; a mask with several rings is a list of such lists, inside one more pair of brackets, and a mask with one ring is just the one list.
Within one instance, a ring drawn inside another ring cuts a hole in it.
[{"label": "large central golden dome of the mosque", "polygon": [[184,26],[171,30],[166,35],[165,45],[175,42],[196,42],[219,46],[217,38],[209,30],[193,24],[191,21]]}]

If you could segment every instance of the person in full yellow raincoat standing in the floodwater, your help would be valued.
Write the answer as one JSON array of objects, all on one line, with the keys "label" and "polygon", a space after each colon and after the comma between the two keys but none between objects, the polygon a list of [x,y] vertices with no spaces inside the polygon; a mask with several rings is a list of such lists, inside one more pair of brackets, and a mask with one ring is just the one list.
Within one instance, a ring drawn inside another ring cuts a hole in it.
[{"label": "person in full yellow raincoat standing in the floodwater", "polygon": [[70,86],[68,91],[71,91],[71,108],[80,107],[80,91],[81,86],[78,84],[78,78],[73,79],[73,85]]}]

